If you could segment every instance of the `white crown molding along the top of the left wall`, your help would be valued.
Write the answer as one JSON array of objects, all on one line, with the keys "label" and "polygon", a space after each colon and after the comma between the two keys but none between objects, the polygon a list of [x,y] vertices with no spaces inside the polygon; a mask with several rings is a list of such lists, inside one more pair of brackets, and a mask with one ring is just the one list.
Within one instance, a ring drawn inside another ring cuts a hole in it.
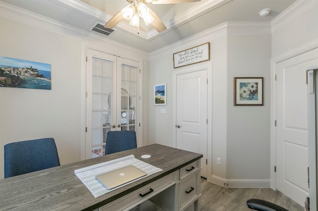
[{"label": "white crown molding along the top of the left wall", "polygon": [[77,27],[59,22],[57,20],[48,18],[46,16],[34,12],[30,12],[28,10],[14,6],[12,4],[5,3],[3,1],[0,1],[0,17],[22,24],[26,24],[29,26],[33,26],[39,29],[43,29],[46,31],[50,31],[55,34],[67,36],[76,40],[84,41],[87,40],[87,38],[92,38],[93,40],[99,40],[106,44],[115,45],[119,48],[124,48],[132,52],[141,53],[147,56],[149,55],[148,52],[135,49],[122,43],[110,40],[107,37],[99,35],[97,33],[79,29]]}]

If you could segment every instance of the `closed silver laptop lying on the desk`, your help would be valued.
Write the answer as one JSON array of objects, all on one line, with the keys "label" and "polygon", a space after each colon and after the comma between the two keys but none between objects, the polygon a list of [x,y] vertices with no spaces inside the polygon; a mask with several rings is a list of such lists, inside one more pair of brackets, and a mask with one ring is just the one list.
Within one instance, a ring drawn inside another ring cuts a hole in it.
[{"label": "closed silver laptop lying on the desk", "polygon": [[140,170],[136,166],[128,165],[96,175],[95,179],[103,184],[108,190],[110,190],[145,175],[147,175],[147,173]]}]

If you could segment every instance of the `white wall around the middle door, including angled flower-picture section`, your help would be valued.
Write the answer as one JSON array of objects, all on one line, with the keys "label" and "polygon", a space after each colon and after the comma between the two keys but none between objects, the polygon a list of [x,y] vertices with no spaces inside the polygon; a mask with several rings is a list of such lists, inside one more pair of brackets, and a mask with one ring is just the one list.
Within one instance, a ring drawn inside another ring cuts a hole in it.
[{"label": "white wall around the middle door, including angled flower-picture section", "polygon": [[[241,27],[245,27],[242,23]],[[227,35],[233,23],[225,23],[199,33],[150,56],[150,87],[167,83],[167,106],[153,106],[150,93],[150,140],[153,143],[175,146],[175,122],[171,123],[173,53],[210,42],[212,63],[212,175],[208,179],[217,184],[243,179],[260,180],[269,186],[270,166],[270,54],[271,36]],[[269,28],[268,28],[269,29]],[[249,34],[246,32],[245,34]],[[234,34],[234,35],[232,35]],[[241,34],[241,32],[239,32]],[[200,63],[201,64],[201,63]],[[196,65],[189,65],[186,68]],[[233,77],[264,77],[264,106],[234,106]],[[161,114],[160,108],[166,113]],[[242,124],[244,122],[244,124]],[[211,146],[211,145],[210,145]],[[255,158],[256,157],[256,158]],[[217,165],[217,158],[222,165]],[[256,161],[255,161],[256,160]],[[230,183],[230,186],[232,184]],[[246,182],[243,184],[246,186]],[[259,183],[258,183],[259,185]],[[248,186],[248,185],[247,185]]]}]

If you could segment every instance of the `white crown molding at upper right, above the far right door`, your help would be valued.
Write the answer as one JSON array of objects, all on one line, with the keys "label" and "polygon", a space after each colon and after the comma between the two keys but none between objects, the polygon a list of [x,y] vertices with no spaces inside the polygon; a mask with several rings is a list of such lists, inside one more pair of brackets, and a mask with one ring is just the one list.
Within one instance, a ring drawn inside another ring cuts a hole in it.
[{"label": "white crown molding at upper right, above the far right door", "polygon": [[296,20],[308,10],[318,6],[318,0],[296,0],[292,5],[271,20],[272,34]]}]

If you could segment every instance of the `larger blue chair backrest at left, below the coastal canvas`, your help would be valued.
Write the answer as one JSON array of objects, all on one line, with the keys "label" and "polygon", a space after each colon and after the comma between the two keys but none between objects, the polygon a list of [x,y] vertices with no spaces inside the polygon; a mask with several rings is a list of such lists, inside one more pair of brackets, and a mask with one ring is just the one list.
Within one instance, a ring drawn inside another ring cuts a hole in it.
[{"label": "larger blue chair backrest at left, below the coastal canvas", "polygon": [[4,145],[4,178],[60,165],[53,138]]}]

